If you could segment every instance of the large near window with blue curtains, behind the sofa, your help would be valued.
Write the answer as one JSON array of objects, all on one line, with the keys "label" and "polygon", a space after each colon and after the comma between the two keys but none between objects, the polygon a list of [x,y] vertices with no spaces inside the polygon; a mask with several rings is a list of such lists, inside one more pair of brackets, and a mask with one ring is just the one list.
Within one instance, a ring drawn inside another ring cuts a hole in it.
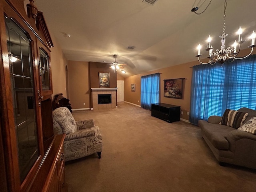
[{"label": "large near window with blue curtains, behind the sofa", "polygon": [[222,116],[226,108],[256,109],[256,55],[223,65],[193,67],[190,122]]}]

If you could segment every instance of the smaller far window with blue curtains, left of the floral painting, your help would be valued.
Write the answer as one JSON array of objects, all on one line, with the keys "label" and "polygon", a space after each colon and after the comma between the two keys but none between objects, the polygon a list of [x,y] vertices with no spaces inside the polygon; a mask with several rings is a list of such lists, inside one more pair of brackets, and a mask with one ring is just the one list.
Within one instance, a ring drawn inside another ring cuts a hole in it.
[{"label": "smaller far window with blue curtains, left of the floral painting", "polygon": [[151,103],[159,102],[160,74],[150,74],[141,77],[141,107],[150,109]]}]

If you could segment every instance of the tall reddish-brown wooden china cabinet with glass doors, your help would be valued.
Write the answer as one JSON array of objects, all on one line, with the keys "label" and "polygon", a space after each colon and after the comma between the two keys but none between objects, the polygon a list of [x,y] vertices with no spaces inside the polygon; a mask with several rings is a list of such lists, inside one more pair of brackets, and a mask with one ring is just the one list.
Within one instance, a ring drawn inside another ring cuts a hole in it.
[{"label": "tall reddish-brown wooden china cabinet with glass doors", "polygon": [[3,192],[65,189],[64,135],[53,133],[52,46],[43,14],[33,0],[25,6],[24,0],[0,0]]}]

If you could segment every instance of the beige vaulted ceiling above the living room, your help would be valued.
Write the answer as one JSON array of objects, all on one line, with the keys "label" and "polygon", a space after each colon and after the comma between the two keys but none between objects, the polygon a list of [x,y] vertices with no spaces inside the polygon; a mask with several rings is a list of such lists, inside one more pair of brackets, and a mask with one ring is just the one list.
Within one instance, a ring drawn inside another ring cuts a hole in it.
[{"label": "beige vaulted ceiling above the living room", "polygon": [[[116,61],[127,64],[126,77],[197,60],[196,47],[206,48],[209,35],[214,50],[220,49],[224,0],[212,0],[200,15],[190,11],[194,5],[202,12],[210,1],[35,0],[35,5],[68,60],[111,64],[117,54]],[[227,0],[226,46],[238,38],[239,26],[243,40],[256,31],[255,7],[255,0]]]}]

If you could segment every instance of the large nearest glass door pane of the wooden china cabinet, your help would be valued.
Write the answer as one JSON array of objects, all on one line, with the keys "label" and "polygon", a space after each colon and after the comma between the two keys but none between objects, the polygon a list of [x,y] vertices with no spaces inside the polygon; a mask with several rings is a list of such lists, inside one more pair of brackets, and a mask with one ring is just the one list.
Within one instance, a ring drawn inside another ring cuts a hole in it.
[{"label": "large nearest glass door pane of the wooden china cabinet", "polygon": [[39,156],[32,50],[30,39],[16,22],[5,18],[5,24],[22,182]]}]

